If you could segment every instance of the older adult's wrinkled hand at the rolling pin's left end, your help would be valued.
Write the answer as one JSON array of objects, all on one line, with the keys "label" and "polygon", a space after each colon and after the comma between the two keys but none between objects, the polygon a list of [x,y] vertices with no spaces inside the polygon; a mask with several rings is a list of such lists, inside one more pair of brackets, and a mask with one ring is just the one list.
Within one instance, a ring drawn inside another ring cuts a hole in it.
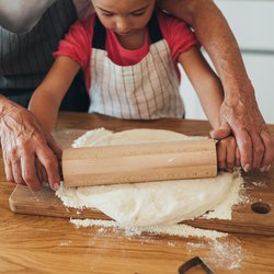
[{"label": "older adult's wrinkled hand at the rolling pin's left end", "polygon": [[27,184],[32,191],[39,190],[42,182],[36,168],[39,161],[50,187],[58,189],[61,150],[30,111],[0,98],[0,134],[8,181]]}]

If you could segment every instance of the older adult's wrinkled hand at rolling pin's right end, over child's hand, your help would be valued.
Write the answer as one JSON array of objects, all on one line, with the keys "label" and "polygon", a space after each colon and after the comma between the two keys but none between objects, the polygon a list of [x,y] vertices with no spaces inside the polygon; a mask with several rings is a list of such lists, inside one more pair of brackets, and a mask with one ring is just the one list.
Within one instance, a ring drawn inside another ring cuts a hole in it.
[{"label": "older adult's wrinkled hand at rolling pin's right end, over child's hand", "polygon": [[225,99],[220,109],[221,126],[212,130],[210,136],[220,140],[232,134],[244,171],[260,169],[264,172],[270,170],[274,159],[274,140],[252,94]]}]

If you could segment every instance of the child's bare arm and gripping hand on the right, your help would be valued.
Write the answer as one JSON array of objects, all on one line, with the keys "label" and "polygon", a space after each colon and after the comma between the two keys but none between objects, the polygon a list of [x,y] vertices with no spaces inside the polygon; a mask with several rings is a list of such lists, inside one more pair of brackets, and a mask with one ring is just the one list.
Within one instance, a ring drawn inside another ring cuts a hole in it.
[{"label": "child's bare arm and gripping hand on the right", "polygon": [[[179,61],[183,66],[194,87],[206,116],[214,129],[220,126],[220,105],[224,101],[221,83],[212,70],[197,47],[180,54]],[[240,164],[240,155],[233,136],[219,140],[217,144],[218,167],[231,171]]]}]

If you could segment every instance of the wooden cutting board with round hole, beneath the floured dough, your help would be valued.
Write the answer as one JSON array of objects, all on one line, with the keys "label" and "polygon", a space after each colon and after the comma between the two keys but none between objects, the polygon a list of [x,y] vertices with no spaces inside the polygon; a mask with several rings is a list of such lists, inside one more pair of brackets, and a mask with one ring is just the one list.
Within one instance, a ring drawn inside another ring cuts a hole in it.
[{"label": "wooden cutting board with round hole, beneath the floured dough", "polygon": [[[55,137],[61,147],[68,147],[71,140],[80,136],[83,130],[58,130]],[[195,219],[184,224],[215,229],[225,232],[253,233],[274,236],[274,169],[270,173],[252,172],[243,174],[246,203],[232,208],[231,220]],[[96,209],[67,208],[55,193],[44,187],[37,193],[26,186],[16,186],[10,196],[10,208],[14,213],[56,216],[67,218],[111,219]],[[182,208],[183,210],[183,208]]]}]

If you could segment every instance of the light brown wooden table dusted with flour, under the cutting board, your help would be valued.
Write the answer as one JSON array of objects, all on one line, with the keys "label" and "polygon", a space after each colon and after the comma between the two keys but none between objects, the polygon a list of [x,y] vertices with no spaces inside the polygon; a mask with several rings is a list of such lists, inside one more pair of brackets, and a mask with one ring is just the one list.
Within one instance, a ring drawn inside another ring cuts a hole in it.
[{"label": "light brown wooden table dusted with flour, under the cutting board", "polygon": [[[79,113],[62,113],[57,124],[57,129],[98,127],[161,128],[189,135],[207,135],[209,130],[209,125],[201,121],[126,122]],[[271,130],[274,134],[274,126]],[[274,169],[267,178],[274,180]],[[94,227],[77,229],[66,218],[11,213],[8,198],[14,185],[4,182],[1,159],[0,181],[0,273],[174,274],[194,256],[201,256],[216,273],[274,273],[274,237],[235,233],[210,240],[127,237],[124,231]]]}]

